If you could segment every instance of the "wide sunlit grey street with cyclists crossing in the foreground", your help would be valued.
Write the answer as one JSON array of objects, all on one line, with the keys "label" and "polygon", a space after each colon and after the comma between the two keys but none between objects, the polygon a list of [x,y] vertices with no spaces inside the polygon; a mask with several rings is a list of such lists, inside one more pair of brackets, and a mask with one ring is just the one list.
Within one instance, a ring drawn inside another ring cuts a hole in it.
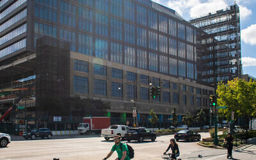
[{"label": "wide sunlit grey street with cyclists crossing in the foreground", "polygon": [[[209,137],[209,133],[200,133],[202,138]],[[168,147],[173,135],[159,136],[155,142],[131,141],[134,148],[134,159],[164,159],[163,152]],[[124,142],[124,141],[123,141]],[[12,141],[8,147],[0,148],[0,159],[102,159],[111,147],[113,140],[106,141],[104,138],[67,138],[51,140],[21,140]],[[227,159],[227,150],[205,148],[196,144],[196,141],[179,141],[181,159]],[[198,154],[202,158],[198,158]],[[255,159],[255,145],[246,145],[233,152],[236,159]],[[115,159],[116,152],[109,158]]]}]

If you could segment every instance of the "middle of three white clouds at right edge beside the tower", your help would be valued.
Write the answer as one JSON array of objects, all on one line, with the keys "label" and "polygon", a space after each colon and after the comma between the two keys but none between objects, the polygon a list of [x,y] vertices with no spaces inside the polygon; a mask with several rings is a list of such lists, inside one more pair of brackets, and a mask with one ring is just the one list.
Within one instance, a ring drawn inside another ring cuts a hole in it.
[{"label": "middle of three white clouds at right edge beside the tower", "polygon": [[256,24],[241,31],[241,40],[246,44],[256,45]]}]

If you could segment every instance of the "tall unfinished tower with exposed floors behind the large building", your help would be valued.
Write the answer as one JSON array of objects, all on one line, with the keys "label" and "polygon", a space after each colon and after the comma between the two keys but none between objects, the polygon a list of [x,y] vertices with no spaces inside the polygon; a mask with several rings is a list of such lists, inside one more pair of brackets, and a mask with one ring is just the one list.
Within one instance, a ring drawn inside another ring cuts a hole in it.
[{"label": "tall unfinished tower with exposed floors behind the large building", "polygon": [[198,79],[214,84],[214,81],[225,83],[235,77],[241,78],[239,6],[234,4],[189,22],[207,33],[201,40],[207,51],[200,56]]}]

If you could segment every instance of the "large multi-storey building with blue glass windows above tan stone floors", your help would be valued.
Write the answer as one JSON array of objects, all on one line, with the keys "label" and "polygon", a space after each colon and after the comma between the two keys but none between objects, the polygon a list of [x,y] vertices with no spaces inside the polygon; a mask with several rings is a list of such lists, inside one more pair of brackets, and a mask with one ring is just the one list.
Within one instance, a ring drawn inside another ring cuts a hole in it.
[{"label": "large multi-storey building with blue glass windows above tan stone floors", "polygon": [[[179,118],[209,108],[214,89],[197,77],[204,31],[170,8],[148,0],[13,0],[0,10],[3,108],[29,85],[34,101],[47,85],[63,96],[106,100],[114,118],[132,117],[134,106],[146,119],[150,109],[168,119],[173,108]],[[52,49],[42,45],[50,39]],[[157,99],[150,83],[161,87]]]}]

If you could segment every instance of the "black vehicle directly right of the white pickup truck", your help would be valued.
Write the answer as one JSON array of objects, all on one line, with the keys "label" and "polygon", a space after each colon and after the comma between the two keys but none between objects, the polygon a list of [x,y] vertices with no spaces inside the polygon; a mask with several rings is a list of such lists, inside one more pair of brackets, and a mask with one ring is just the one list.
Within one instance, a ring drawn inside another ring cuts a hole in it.
[{"label": "black vehicle directly right of the white pickup truck", "polygon": [[127,141],[138,140],[140,142],[142,142],[143,140],[155,141],[156,133],[149,131],[145,127],[130,128],[125,134],[125,140]]}]

